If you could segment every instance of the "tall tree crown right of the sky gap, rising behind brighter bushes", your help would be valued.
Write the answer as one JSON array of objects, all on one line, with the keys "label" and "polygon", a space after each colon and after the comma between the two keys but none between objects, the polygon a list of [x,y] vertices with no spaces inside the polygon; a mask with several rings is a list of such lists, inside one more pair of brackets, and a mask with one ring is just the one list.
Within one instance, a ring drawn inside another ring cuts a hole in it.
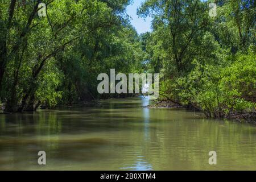
[{"label": "tall tree crown right of the sky gap, rising behind brighter bushes", "polygon": [[189,70],[200,49],[201,38],[210,24],[208,4],[200,0],[147,0],[138,14],[151,16],[152,27],[177,72]]}]

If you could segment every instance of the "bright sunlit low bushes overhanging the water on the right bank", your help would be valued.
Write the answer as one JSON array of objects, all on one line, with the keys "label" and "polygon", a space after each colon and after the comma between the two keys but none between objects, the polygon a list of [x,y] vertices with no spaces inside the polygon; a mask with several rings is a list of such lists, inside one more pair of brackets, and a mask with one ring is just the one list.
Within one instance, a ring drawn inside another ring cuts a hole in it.
[{"label": "bright sunlit low bushes overhanging the water on the right bank", "polygon": [[[184,77],[163,85],[164,93],[183,105],[203,110],[208,117],[229,117],[241,111],[253,111],[256,90],[255,53],[233,57],[226,67],[202,65],[195,61],[195,68]],[[171,92],[170,92],[171,90]]]}]

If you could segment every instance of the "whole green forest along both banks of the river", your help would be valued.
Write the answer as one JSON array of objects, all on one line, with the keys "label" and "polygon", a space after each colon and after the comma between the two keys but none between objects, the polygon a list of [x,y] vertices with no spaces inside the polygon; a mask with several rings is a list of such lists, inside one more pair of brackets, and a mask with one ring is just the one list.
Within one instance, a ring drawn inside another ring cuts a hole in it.
[{"label": "whole green forest along both banks of the river", "polygon": [[[45,16],[39,16],[42,2]],[[217,5],[216,16],[209,16],[210,2]],[[200,110],[209,118],[255,119],[254,0],[146,0],[137,14],[152,18],[152,31],[140,35],[126,14],[131,3],[2,0],[2,111],[131,97],[97,92],[98,74],[114,68],[159,73],[158,102]]]}]

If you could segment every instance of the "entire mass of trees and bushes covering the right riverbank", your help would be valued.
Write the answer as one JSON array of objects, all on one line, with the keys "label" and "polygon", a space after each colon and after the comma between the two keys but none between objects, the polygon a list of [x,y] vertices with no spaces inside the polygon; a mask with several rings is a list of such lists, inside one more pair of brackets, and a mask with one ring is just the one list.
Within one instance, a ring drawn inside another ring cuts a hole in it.
[{"label": "entire mass of trees and bushes covering the right riverbank", "polygon": [[[147,0],[152,16],[142,35],[152,72],[160,72],[162,100],[203,110],[208,117],[253,112],[256,99],[255,1]],[[255,112],[253,112],[255,118]]]}]

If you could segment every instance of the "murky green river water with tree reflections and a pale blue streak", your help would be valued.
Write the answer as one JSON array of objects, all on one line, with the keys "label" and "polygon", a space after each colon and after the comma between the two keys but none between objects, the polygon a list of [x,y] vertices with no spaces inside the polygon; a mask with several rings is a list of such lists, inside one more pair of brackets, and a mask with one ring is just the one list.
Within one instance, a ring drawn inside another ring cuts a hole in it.
[{"label": "murky green river water with tree reflections and a pale blue streak", "polygon": [[[100,106],[0,115],[0,169],[256,169],[256,127],[183,109],[148,109],[144,98]],[[39,166],[38,151],[46,151]],[[217,165],[209,165],[209,151]]]}]

